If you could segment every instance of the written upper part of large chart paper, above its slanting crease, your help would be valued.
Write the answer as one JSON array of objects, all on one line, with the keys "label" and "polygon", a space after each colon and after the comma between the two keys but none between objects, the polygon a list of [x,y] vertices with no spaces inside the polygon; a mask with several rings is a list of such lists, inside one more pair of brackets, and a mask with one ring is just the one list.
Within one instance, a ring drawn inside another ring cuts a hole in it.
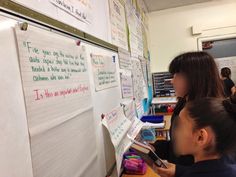
[{"label": "written upper part of large chart paper, above its slanting crease", "polygon": [[91,108],[85,48],[38,29],[16,29],[28,122],[35,132]]}]

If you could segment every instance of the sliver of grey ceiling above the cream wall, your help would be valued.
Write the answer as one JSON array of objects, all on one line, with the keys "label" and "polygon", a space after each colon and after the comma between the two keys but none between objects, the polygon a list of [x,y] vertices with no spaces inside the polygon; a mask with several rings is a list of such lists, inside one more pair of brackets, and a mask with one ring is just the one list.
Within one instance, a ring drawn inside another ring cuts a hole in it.
[{"label": "sliver of grey ceiling above the cream wall", "polygon": [[143,0],[149,12],[181,7],[212,0]]}]

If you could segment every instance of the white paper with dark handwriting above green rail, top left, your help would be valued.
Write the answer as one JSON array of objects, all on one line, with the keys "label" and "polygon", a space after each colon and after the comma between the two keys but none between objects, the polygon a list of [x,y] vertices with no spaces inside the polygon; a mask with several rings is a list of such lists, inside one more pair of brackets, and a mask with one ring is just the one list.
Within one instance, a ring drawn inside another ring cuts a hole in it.
[{"label": "white paper with dark handwriting above green rail, top left", "polygon": [[[39,13],[47,15],[53,19],[61,21],[65,24],[71,25],[75,28],[80,29],[88,34],[91,34],[97,38],[109,41],[109,27],[108,27],[108,1],[107,0],[64,0],[64,1],[54,1],[54,0],[13,0],[25,7],[35,10]],[[72,6],[73,8],[78,8],[80,12],[84,12],[88,15],[89,22],[84,22],[75,13],[71,14],[65,9],[55,6],[52,2],[66,3],[67,6]],[[87,4],[90,8],[83,9],[82,4]],[[99,28],[98,28],[99,26]]]}]

